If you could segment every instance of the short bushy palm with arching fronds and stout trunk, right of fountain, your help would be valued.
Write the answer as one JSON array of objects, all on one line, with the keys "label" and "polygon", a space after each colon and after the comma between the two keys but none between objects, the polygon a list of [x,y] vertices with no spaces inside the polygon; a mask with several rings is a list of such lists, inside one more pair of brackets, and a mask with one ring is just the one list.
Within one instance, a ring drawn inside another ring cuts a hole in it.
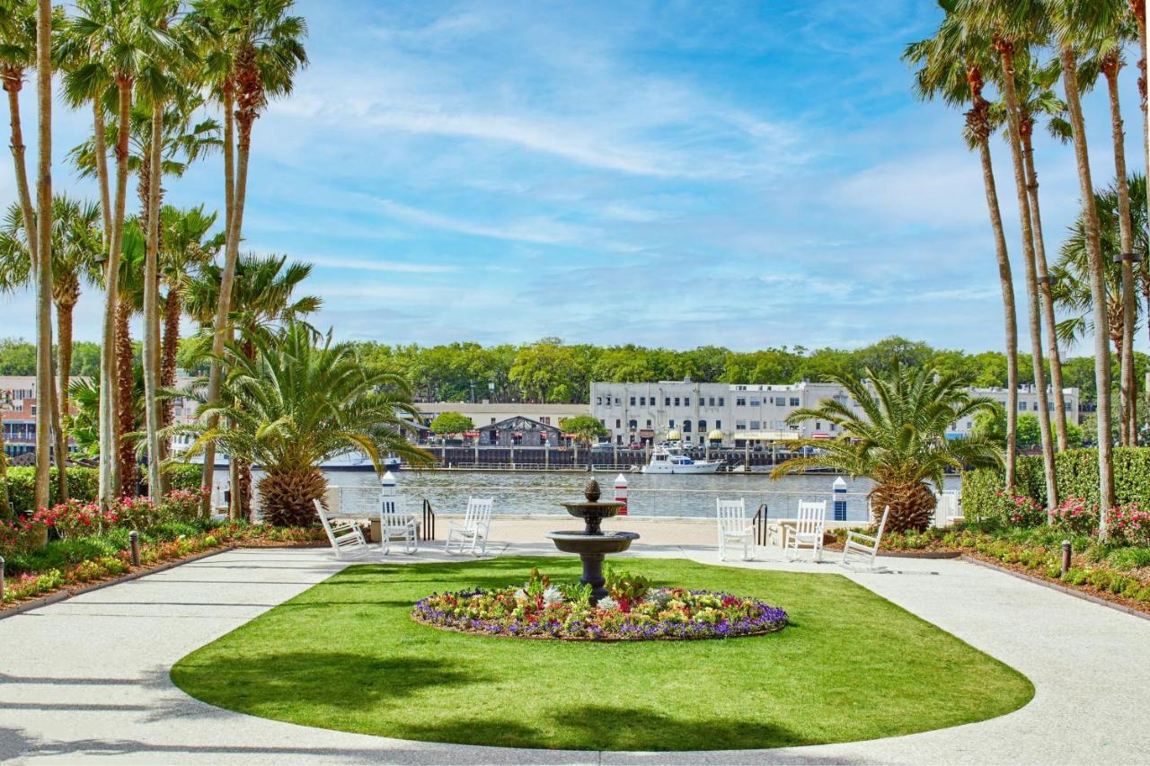
[{"label": "short bushy palm with arching fronds and stout trunk, right of fountain", "polygon": [[887,520],[892,531],[921,530],[930,523],[935,489],[941,490],[946,470],[967,466],[1002,465],[1002,453],[984,436],[948,439],[948,427],[979,413],[994,413],[994,399],[973,397],[958,375],[911,369],[898,365],[868,378],[848,373],[828,376],[844,388],[862,411],[857,414],[837,399],[823,399],[816,407],[796,409],[788,423],[820,420],[842,431],[836,439],[800,441],[798,446],[818,447],[813,454],[779,465],[772,478],[803,473],[807,468],[831,468],[852,477],[875,482],[871,508],[876,516],[890,507]]}]

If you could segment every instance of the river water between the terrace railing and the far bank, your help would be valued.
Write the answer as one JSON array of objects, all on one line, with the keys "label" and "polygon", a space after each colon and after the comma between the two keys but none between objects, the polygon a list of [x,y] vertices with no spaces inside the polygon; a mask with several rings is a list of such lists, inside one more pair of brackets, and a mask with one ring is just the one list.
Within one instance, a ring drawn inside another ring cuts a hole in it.
[{"label": "river water between the terrace railing and the far bank", "polygon": [[[259,472],[255,480],[259,480]],[[396,474],[399,491],[413,503],[427,499],[436,513],[462,513],[467,498],[494,498],[497,514],[566,514],[561,503],[582,499],[583,485],[595,476],[605,499],[614,498],[618,472],[528,473],[470,470],[400,470]],[[329,472],[328,482],[342,489],[347,507],[369,508],[378,498],[379,482],[371,472]],[[628,511],[642,516],[713,516],[715,498],[744,498],[747,513],[767,505],[770,518],[793,516],[799,500],[827,500],[827,516],[835,518],[833,501],[845,499],[846,520],[867,519],[866,495],[874,487],[867,478],[846,482],[845,496],[833,497],[835,476],[810,474],[772,481],[766,474],[647,475],[624,474],[628,483]],[[217,484],[227,484],[227,472],[216,472]],[[946,480],[945,489],[958,489],[958,476]]]}]

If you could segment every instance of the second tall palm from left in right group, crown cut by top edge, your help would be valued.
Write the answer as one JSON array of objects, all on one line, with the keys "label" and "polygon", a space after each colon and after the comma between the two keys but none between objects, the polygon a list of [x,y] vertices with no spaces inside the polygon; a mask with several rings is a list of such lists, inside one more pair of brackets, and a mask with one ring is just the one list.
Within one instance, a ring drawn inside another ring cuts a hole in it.
[{"label": "second tall palm from left in right group, crown cut by top edge", "polygon": [[956,13],[965,25],[986,35],[998,54],[998,82],[1006,112],[1006,144],[1010,147],[1014,169],[1014,190],[1018,197],[1018,216],[1022,232],[1022,265],[1026,269],[1030,359],[1034,362],[1038,424],[1042,431],[1046,506],[1053,510],[1058,505],[1058,484],[1055,474],[1055,445],[1046,400],[1046,373],[1042,354],[1042,314],[1035,262],[1034,220],[1027,191],[1026,161],[1022,155],[1021,113],[1015,69],[1015,61],[1025,62],[1028,60],[1032,44],[1040,39],[1040,32],[1036,28],[1040,13],[1032,0],[959,0]]}]

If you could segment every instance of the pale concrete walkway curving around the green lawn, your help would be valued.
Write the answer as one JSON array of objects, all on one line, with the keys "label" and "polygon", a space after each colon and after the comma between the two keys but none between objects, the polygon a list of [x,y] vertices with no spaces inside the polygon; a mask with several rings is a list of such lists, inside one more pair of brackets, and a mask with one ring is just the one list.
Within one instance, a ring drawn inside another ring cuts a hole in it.
[{"label": "pale concrete walkway curving around the green lawn", "polygon": [[[492,553],[553,553],[507,543]],[[714,564],[713,549],[636,554]],[[368,560],[375,560],[371,552]],[[734,566],[785,564],[777,551]],[[392,557],[400,560],[402,557]],[[415,560],[442,558],[424,551]],[[428,744],[222,711],[168,679],[198,646],[340,569],[322,549],[240,550],[0,620],[0,761],[268,764],[699,764],[1145,761],[1150,621],[954,560],[887,559],[848,576],[1002,659],[1036,687],[1020,711],[904,737],[765,751],[616,753]]]}]

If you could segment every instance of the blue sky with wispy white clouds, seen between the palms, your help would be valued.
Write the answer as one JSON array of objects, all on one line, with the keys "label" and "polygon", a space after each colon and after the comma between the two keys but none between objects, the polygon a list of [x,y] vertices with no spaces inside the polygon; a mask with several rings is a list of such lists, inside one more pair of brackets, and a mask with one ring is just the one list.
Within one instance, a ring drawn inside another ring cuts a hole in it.
[{"label": "blue sky with wispy white clouds, seen between the palms", "polygon": [[[339,337],[1002,345],[976,156],[961,115],[917,102],[899,61],[937,24],[933,2],[299,9],[312,63],[256,122],[244,235],[316,265],[317,323]],[[62,158],[89,125],[59,106],[56,121]],[[1102,92],[1088,131],[1109,182]],[[1009,153],[994,151],[1017,259]],[[1045,137],[1036,156],[1055,251],[1076,210],[1074,161]],[[208,159],[168,199],[222,207],[221,173]],[[91,193],[57,163],[61,186]],[[13,198],[0,173],[0,201]],[[30,308],[5,298],[0,335],[31,337]],[[78,316],[76,336],[95,339],[98,301]]]}]

